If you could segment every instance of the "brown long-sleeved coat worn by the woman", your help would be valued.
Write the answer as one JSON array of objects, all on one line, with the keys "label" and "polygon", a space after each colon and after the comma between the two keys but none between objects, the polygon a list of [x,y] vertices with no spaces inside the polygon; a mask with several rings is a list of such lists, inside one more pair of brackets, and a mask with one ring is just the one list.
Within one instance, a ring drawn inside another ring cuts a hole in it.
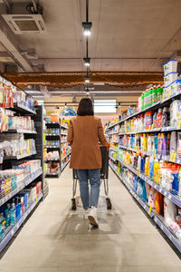
[{"label": "brown long-sleeved coat worn by the woman", "polygon": [[101,169],[100,145],[108,146],[100,118],[77,116],[70,121],[71,169]]}]

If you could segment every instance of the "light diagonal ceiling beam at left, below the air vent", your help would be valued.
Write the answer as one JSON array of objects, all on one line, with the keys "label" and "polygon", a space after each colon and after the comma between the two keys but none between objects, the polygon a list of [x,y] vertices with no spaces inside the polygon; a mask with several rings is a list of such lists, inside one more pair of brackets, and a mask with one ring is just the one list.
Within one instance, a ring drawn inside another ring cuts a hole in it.
[{"label": "light diagonal ceiling beam at left, below the air vent", "polygon": [[24,72],[33,72],[33,66],[28,59],[22,55],[18,40],[4,19],[0,16],[0,43],[4,45],[6,51],[14,59],[14,62],[19,64]]}]

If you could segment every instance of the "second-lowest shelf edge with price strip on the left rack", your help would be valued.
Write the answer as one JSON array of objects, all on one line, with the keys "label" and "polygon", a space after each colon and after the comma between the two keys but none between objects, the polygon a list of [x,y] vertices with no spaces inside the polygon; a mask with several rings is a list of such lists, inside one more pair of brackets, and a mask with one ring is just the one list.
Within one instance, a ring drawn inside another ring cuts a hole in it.
[{"label": "second-lowest shelf edge with price strip on the left rack", "polygon": [[16,189],[14,189],[13,191],[11,191],[4,198],[0,199],[0,206],[2,206],[3,204],[5,204],[5,202],[7,200],[13,198],[14,195],[16,195],[22,189],[24,189],[28,184],[30,184],[33,180],[35,180],[36,178],[38,178],[41,174],[42,174],[42,170],[37,170],[37,171],[33,172],[32,174],[29,174],[27,177],[25,177],[24,180],[22,180],[21,184]]}]

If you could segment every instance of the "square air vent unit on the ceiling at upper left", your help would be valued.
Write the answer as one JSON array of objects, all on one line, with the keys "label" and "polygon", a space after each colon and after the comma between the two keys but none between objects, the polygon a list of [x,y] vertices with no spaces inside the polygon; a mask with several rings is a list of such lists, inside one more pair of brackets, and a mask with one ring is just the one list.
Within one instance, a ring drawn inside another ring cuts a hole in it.
[{"label": "square air vent unit on the ceiling at upper left", "polygon": [[14,34],[43,34],[43,15],[2,15]]}]

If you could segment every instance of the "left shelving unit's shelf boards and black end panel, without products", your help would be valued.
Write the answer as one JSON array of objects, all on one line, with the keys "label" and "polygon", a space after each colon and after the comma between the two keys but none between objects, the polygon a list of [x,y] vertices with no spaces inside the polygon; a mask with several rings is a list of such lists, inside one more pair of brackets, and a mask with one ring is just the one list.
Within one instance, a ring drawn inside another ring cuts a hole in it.
[{"label": "left shelving unit's shelf boards and black end panel, without products", "polygon": [[34,126],[36,131],[24,131],[24,130],[14,130],[14,131],[5,131],[11,133],[24,133],[24,139],[34,139],[36,151],[30,152],[27,151],[21,156],[8,157],[3,161],[3,169],[11,169],[12,160],[41,160],[41,169],[36,170],[35,172],[29,174],[22,180],[20,185],[12,190],[9,194],[5,195],[4,198],[0,199],[0,206],[4,205],[9,199],[12,199],[17,193],[19,193],[22,189],[25,189],[28,185],[30,185],[33,181],[41,181],[42,182],[42,191],[36,196],[36,199],[33,200],[30,206],[24,210],[24,214],[20,219],[15,220],[14,226],[8,227],[5,229],[5,237],[0,240],[0,251],[5,248],[7,243],[14,237],[14,233],[21,227],[24,223],[24,220],[27,219],[32,210],[37,206],[38,202],[43,199],[43,106],[36,106],[33,110],[24,107],[20,103],[14,104],[14,108],[12,110],[17,114],[21,114],[22,116],[31,115],[31,118],[34,121]]}]

